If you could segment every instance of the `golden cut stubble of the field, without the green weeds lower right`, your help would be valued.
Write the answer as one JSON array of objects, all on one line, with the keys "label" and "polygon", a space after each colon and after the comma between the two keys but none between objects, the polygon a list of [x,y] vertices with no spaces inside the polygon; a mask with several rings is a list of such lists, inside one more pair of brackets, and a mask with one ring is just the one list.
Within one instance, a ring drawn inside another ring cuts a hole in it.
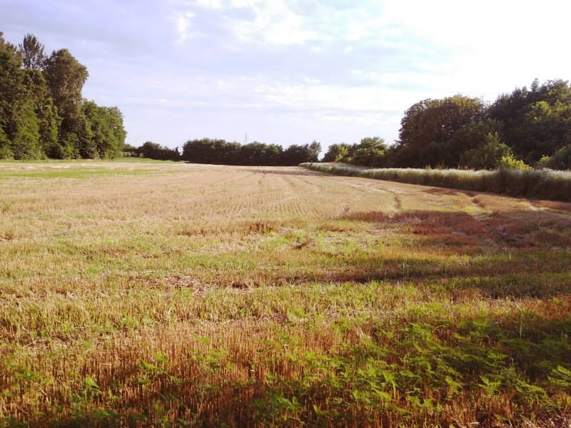
[{"label": "golden cut stubble of the field, without the green weeds lower right", "polygon": [[[215,425],[226,409],[240,424],[268,374],[302,377],[310,367],[296,359],[380,340],[374,325],[390,348],[403,326],[438,314],[569,319],[569,204],[293,167],[62,165],[0,168],[2,417],[145,412],[183,379],[168,420],[198,413]],[[74,177],[82,168],[98,173]],[[555,291],[513,298],[481,285],[504,273]],[[517,412],[509,395],[467,391],[446,402],[445,420],[473,422],[475,403]]]}]

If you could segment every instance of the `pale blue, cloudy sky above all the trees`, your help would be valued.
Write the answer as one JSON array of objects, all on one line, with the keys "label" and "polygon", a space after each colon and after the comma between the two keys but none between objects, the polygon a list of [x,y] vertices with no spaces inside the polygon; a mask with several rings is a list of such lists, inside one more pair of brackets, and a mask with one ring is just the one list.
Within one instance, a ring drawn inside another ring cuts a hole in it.
[{"label": "pale blue, cloudy sky above all the trees", "polygon": [[569,0],[0,0],[0,31],[69,49],[126,143],[398,140],[405,111],[571,78]]}]

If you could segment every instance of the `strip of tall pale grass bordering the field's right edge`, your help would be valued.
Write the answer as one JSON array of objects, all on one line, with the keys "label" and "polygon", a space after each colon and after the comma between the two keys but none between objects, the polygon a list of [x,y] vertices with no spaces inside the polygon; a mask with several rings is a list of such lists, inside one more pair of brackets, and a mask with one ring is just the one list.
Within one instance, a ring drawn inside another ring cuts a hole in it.
[{"label": "strip of tall pale grass bordering the field's right edge", "polygon": [[372,169],[335,163],[302,163],[300,166],[334,175],[571,202],[571,172],[568,171]]}]

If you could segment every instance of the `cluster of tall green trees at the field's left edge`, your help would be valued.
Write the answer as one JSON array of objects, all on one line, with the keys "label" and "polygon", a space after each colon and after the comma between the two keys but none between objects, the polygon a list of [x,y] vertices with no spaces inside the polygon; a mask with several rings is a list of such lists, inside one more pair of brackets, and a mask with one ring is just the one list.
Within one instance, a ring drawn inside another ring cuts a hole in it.
[{"label": "cluster of tall green trees at the field's left edge", "polygon": [[0,32],[0,159],[122,156],[123,114],[82,97],[88,76],[67,49],[48,56],[33,34],[15,46]]}]

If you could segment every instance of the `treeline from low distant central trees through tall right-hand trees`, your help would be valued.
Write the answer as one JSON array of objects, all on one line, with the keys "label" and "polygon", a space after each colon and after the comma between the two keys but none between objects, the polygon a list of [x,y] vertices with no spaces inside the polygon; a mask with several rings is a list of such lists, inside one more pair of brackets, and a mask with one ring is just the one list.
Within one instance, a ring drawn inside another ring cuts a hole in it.
[{"label": "treeline from low distant central trees through tall right-hand trees", "polygon": [[[203,138],[178,149],[145,143],[136,156],[226,165],[297,165],[315,162],[320,144],[254,142],[241,145]],[[399,140],[383,138],[329,146],[322,161],[373,168],[460,168],[472,170],[571,169],[571,86],[553,80],[516,88],[493,103],[455,95],[419,101],[405,111]]]}]

